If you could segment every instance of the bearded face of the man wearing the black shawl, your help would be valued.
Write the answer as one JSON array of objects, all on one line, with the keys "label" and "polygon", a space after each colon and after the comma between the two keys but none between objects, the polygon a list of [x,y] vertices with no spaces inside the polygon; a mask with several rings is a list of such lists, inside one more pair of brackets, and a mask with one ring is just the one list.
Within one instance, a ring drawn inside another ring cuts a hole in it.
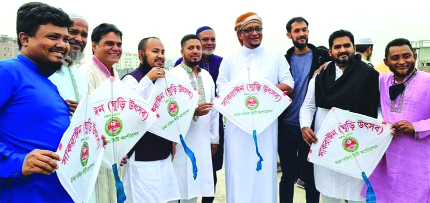
[{"label": "bearded face of the man wearing the black shawl", "polygon": [[354,45],[347,36],[335,38],[328,54],[339,67],[346,67],[355,54]]}]

